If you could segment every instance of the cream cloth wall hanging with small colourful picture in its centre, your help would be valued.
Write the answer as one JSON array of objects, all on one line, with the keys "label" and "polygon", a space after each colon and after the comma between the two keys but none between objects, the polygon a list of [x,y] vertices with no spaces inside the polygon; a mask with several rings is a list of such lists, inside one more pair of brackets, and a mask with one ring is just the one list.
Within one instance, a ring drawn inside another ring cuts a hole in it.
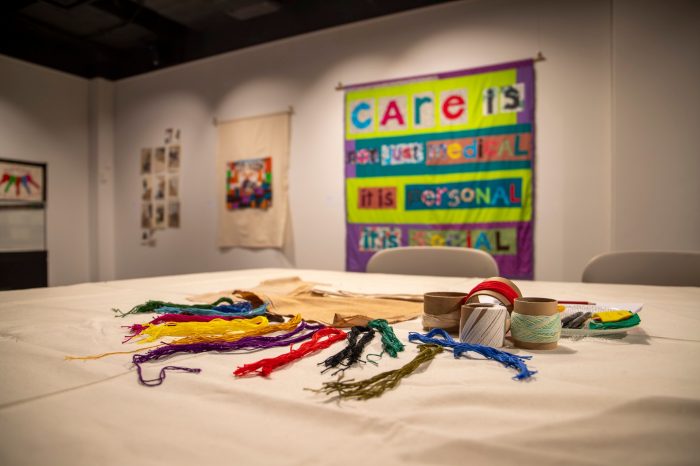
[{"label": "cream cloth wall hanging with small colourful picture in its centre", "polygon": [[289,116],[284,112],[219,123],[219,247],[282,247]]}]

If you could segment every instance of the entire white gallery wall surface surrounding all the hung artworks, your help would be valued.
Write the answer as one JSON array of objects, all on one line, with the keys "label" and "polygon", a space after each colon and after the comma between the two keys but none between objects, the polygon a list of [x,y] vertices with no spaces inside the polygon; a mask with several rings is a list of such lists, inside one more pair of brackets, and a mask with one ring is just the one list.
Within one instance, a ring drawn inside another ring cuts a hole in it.
[{"label": "entire white gallery wall surface surrounding all the hung artworks", "polygon": [[[0,57],[0,157],[49,163],[52,285],[258,266],[341,270],[336,84],[541,50],[535,276],[578,280],[603,251],[700,250],[699,20],[700,2],[682,0],[464,1],[116,83]],[[292,238],[283,251],[220,251],[212,118],[289,105]],[[139,150],[168,127],[183,131],[182,228],[158,232],[149,248],[140,245]]]}]

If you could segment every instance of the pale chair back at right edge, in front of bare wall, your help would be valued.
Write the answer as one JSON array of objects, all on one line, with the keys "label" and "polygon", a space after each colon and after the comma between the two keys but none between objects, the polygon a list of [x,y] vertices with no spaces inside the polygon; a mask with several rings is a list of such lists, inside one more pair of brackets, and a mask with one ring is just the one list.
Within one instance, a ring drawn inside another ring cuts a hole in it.
[{"label": "pale chair back at right edge, in front of bare wall", "polygon": [[600,254],[581,278],[588,283],[700,286],[700,252],[625,251]]}]

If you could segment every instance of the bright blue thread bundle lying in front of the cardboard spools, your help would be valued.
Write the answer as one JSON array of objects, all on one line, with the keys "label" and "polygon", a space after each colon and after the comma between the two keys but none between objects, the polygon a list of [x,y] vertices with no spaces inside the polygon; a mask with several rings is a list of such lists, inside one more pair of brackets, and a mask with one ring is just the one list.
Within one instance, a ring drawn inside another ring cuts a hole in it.
[{"label": "bright blue thread bundle lying in front of the cardboard spools", "polygon": [[[441,338],[436,338],[436,335]],[[445,330],[441,328],[434,328],[425,335],[418,332],[410,332],[408,334],[408,341],[412,343],[415,343],[416,341],[421,343],[432,343],[435,345],[444,346],[446,348],[451,348],[455,358],[459,358],[462,356],[462,354],[469,351],[479,353],[488,359],[493,359],[506,367],[517,370],[518,374],[513,377],[513,379],[516,380],[527,379],[537,373],[537,371],[531,371],[528,369],[527,364],[525,364],[525,360],[531,359],[532,356],[518,356],[516,354],[501,351],[490,346],[460,343],[454,340]]]}]

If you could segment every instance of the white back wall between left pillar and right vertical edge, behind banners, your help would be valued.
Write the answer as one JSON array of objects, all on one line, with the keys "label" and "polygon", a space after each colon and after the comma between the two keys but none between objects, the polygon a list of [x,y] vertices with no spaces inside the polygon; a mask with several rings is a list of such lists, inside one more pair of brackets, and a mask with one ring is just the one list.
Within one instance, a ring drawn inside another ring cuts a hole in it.
[{"label": "white back wall between left pillar and right vertical edge, behind banners", "polygon": [[[519,60],[537,65],[536,277],[580,278],[610,246],[609,3],[459,2],[229,53],[116,85],[117,275],[294,265],[343,269],[343,115],[338,81]],[[215,248],[215,128],[294,107],[286,254]],[[138,154],[183,130],[182,229],[139,245]],[[591,180],[599,188],[591,190]],[[585,195],[584,195],[585,193]],[[594,225],[585,234],[582,225]]]}]

